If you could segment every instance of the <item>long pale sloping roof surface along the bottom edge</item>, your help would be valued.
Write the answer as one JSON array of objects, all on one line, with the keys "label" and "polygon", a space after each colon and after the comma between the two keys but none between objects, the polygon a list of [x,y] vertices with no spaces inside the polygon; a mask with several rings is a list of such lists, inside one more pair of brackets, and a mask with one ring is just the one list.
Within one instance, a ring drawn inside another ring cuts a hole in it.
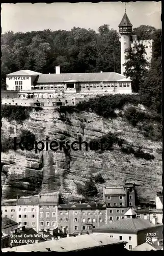
[{"label": "long pale sloping roof surface along the bottom edge", "polygon": [[60,240],[46,241],[42,243],[35,243],[29,245],[22,245],[13,248],[3,248],[2,252],[7,251],[50,251],[66,252],[66,251],[77,251],[84,250],[92,247],[99,247],[105,245],[116,245],[116,244],[126,244],[114,238],[110,238],[104,234],[82,234],[81,236],[62,238]]}]

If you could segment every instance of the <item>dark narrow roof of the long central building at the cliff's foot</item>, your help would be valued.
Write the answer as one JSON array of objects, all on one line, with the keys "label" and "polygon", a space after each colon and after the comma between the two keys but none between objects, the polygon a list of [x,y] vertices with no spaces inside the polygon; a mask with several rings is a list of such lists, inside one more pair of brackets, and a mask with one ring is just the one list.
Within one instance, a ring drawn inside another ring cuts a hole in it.
[{"label": "dark narrow roof of the long central building at the cliff's foot", "polygon": [[58,206],[58,209],[102,209],[102,208],[106,208],[106,204],[77,204],[77,203],[73,203],[73,204],[60,204]]}]

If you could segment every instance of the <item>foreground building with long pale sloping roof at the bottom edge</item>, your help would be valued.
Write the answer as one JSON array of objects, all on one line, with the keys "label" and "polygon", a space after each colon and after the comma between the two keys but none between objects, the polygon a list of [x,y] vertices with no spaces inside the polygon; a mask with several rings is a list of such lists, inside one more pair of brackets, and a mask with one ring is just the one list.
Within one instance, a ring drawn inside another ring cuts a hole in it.
[{"label": "foreground building with long pale sloping roof at the bottom edge", "polygon": [[53,255],[59,252],[81,252],[84,253],[103,253],[108,255],[109,251],[126,252],[124,249],[126,242],[112,239],[103,234],[84,234],[82,236],[62,238],[57,241],[46,241],[29,245],[22,245],[13,248],[3,248],[2,252],[30,252],[30,251],[53,251]]}]

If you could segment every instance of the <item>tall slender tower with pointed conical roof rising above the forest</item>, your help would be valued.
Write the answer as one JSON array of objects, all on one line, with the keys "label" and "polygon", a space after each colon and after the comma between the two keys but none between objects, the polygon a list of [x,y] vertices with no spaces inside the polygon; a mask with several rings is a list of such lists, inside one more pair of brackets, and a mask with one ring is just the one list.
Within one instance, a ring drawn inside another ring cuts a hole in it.
[{"label": "tall slender tower with pointed conical roof rising above the forest", "polygon": [[132,34],[132,24],[126,14],[126,6],[125,6],[125,13],[119,25],[119,33],[121,35],[121,74],[125,72],[125,67],[123,64],[125,63],[125,50],[130,48],[130,40]]}]

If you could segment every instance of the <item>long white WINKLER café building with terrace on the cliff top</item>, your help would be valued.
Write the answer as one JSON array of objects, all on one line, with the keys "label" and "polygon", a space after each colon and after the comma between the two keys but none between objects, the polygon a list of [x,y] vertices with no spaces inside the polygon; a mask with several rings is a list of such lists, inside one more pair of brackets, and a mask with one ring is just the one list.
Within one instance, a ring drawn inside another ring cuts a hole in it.
[{"label": "long white WINKLER caf\u00e9 building with terrace on the cliff top", "polygon": [[26,106],[75,105],[108,94],[131,94],[131,80],[116,72],[41,74],[20,70],[7,75],[2,104]]}]

